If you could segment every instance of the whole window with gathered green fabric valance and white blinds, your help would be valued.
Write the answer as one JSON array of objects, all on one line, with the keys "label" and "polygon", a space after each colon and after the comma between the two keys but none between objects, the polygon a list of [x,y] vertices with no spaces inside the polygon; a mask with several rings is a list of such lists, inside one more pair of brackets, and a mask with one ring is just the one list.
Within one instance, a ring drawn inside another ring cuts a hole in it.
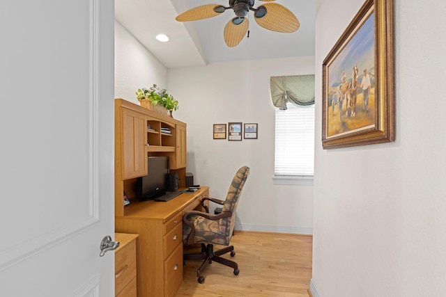
[{"label": "whole window with gathered green fabric valance and white blinds", "polygon": [[314,74],[270,77],[275,111],[274,184],[313,184]]}]

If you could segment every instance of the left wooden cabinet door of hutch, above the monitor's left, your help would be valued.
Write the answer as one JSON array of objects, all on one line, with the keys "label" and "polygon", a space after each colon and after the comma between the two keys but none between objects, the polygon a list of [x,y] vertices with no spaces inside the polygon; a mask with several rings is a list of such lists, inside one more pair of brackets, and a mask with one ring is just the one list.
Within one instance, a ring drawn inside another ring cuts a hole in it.
[{"label": "left wooden cabinet door of hutch, above the monitor's left", "polygon": [[147,121],[144,114],[121,109],[121,160],[123,179],[147,175]]}]

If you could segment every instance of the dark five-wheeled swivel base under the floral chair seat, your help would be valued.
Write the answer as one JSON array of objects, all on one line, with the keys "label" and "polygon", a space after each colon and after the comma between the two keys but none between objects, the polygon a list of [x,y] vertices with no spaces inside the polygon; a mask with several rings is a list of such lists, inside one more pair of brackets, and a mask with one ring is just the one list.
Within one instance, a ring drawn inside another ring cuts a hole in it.
[{"label": "dark five-wheeled swivel base under the floral chair seat", "polygon": [[236,262],[233,262],[229,259],[220,257],[221,255],[226,254],[226,252],[231,252],[230,253],[231,257],[234,257],[236,255],[236,252],[234,252],[233,246],[226,246],[225,248],[222,248],[221,250],[214,251],[213,244],[209,243],[206,246],[204,243],[201,243],[201,254],[185,254],[185,255],[183,255],[183,259],[185,259],[185,260],[204,260],[203,263],[201,263],[200,267],[197,269],[197,278],[198,278],[197,281],[200,284],[202,284],[204,282],[204,277],[203,277],[203,275],[201,275],[201,273],[203,273],[204,269],[209,264],[212,264],[213,261],[233,268],[234,275],[238,275],[238,273],[240,273],[240,271],[238,270],[238,264]]}]

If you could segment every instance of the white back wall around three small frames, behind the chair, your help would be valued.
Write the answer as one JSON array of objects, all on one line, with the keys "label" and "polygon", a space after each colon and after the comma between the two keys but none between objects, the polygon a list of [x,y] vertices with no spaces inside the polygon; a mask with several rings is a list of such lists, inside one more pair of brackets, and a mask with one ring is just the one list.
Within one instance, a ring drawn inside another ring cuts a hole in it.
[{"label": "white back wall around three small frames, behind the chair", "polygon": [[[312,233],[312,186],[273,185],[275,108],[270,77],[314,74],[314,57],[213,63],[168,70],[169,93],[180,102],[174,118],[187,122],[187,171],[210,195],[224,199],[231,179],[251,173],[238,206],[236,229]],[[259,123],[259,139],[213,139],[213,124]]]}]

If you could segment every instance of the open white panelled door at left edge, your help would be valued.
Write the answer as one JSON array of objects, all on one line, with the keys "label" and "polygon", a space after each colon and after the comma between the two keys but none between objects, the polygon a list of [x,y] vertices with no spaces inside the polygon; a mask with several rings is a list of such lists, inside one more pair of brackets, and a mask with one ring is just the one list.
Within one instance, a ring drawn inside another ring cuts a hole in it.
[{"label": "open white panelled door at left edge", "polygon": [[0,1],[0,296],[114,296],[114,1]]}]

